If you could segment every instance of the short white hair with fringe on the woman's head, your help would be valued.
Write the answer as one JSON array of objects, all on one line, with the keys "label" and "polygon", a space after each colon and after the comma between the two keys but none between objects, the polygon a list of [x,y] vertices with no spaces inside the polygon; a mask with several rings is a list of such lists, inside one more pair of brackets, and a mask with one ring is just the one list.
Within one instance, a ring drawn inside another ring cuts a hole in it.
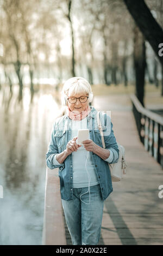
[{"label": "short white hair with fringe on the woman's head", "polygon": [[89,82],[84,79],[80,78],[78,76],[75,76],[74,78],[68,79],[62,88],[61,91],[61,101],[62,104],[64,103],[65,96],[71,96],[76,95],[80,93],[87,93],[89,94],[91,92],[91,85]]}]

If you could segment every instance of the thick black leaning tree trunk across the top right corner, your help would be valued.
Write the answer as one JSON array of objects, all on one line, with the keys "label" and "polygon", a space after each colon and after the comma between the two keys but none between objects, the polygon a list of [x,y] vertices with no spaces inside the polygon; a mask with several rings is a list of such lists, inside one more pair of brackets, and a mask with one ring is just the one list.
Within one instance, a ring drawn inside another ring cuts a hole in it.
[{"label": "thick black leaning tree trunk across the top right corner", "polygon": [[156,56],[159,58],[159,61],[163,65],[163,58],[159,56],[159,44],[163,41],[163,31],[158,22],[154,19],[151,11],[147,7],[144,0],[123,0],[127,5],[127,8],[133,16],[137,26],[140,28],[140,31],[151,44]]}]

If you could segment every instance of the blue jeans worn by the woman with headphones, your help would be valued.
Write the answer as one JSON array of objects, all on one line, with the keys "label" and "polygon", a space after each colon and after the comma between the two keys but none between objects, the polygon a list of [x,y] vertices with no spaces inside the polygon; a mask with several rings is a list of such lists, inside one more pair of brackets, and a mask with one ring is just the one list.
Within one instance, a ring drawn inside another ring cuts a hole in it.
[{"label": "blue jeans worn by the woman with headphones", "polygon": [[98,245],[99,242],[104,200],[99,184],[90,187],[90,196],[88,189],[73,188],[73,200],[61,199],[73,245]]}]

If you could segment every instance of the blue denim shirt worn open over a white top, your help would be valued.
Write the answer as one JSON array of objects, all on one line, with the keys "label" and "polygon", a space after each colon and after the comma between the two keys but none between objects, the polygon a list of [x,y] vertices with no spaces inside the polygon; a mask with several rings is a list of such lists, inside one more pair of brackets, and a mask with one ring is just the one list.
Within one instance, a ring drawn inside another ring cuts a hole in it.
[{"label": "blue denim shirt worn open over a white top", "polygon": [[[93,140],[98,146],[103,147],[101,134],[98,129],[97,123],[97,110],[90,106],[91,112],[87,118],[87,127],[90,130],[90,139]],[[109,115],[104,112],[100,113],[100,121],[102,124],[105,148],[117,151],[119,157],[119,150],[114,131],[112,130],[112,122]],[[61,116],[55,120],[51,141],[48,146],[46,153],[47,166],[50,169],[59,168],[60,177],[60,194],[61,199],[66,201],[73,199],[73,166],[72,166],[72,154],[70,154],[65,161],[60,165],[53,164],[53,157],[55,154],[61,153],[66,150],[66,145],[70,141],[72,133],[72,120],[67,116]],[[93,164],[95,165],[96,174],[101,187],[102,198],[105,200],[112,192],[112,181],[108,163],[103,160],[97,154],[91,152]],[[117,163],[118,158],[112,160],[111,163]]]}]

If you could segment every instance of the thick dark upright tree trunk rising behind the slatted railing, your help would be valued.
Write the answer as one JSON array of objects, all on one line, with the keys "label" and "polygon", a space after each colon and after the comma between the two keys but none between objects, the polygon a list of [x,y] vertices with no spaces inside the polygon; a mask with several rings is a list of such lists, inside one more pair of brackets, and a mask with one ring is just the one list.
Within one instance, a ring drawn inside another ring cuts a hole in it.
[{"label": "thick dark upright tree trunk rising behind the slatted railing", "polygon": [[145,70],[146,70],[146,46],[145,38],[139,28],[134,28],[134,67],[136,76],[136,96],[144,106],[144,86],[145,86]]}]

